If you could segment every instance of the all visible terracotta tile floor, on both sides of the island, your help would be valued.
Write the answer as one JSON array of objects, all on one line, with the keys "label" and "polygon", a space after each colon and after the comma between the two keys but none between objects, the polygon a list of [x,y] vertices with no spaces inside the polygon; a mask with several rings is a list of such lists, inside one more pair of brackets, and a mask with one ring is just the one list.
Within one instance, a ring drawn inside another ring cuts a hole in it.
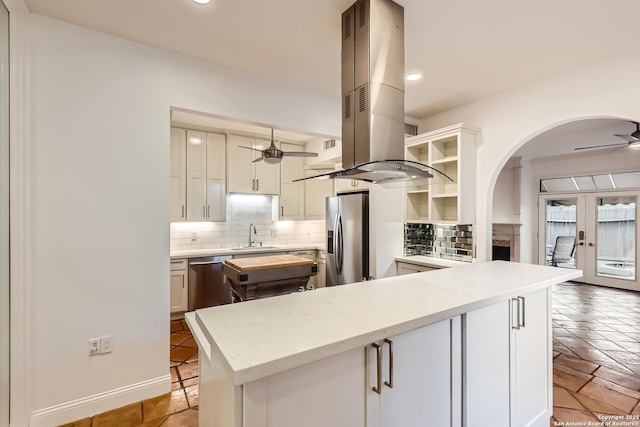
[{"label": "all visible terracotta tile floor, on both sides of the island", "polygon": [[[553,296],[550,425],[640,415],[640,293],[567,283]],[[64,427],[197,427],[198,352],[184,320],[171,322],[169,357],[171,393]]]}]

